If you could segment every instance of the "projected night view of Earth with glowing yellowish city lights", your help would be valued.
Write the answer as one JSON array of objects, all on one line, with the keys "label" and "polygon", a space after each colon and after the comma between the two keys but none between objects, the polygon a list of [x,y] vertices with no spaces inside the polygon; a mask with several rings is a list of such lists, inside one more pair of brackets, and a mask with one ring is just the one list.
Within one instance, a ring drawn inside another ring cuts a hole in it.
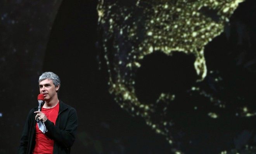
[{"label": "projected night view of Earth with glowing yellowish city lights", "polygon": [[256,152],[255,91],[248,91],[256,86],[255,51],[230,35],[242,2],[99,1],[97,46],[109,92],[174,153]]}]

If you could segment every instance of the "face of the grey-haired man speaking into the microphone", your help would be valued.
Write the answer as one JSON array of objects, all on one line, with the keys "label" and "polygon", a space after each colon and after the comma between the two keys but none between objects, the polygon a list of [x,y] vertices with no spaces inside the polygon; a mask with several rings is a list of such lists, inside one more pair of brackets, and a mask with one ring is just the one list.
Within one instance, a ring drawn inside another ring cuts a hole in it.
[{"label": "face of the grey-haired man speaking into the microphone", "polygon": [[52,80],[49,80],[49,79],[42,80],[39,83],[40,94],[43,94],[43,96],[45,97],[45,100],[49,100],[54,96],[57,96],[58,89],[59,89],[59,86],[55,87]]}]

